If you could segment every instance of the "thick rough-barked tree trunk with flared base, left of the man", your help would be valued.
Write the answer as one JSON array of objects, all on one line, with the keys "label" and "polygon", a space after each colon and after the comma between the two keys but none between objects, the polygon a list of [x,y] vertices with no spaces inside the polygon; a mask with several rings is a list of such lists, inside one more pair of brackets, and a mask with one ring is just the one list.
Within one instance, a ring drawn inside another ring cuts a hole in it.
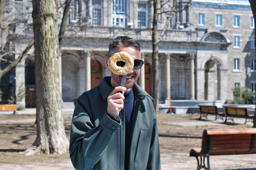
[{"label": "thick rough-barked tree trunk with flared base, left of the man", "polygon": [[58,80],[57,0],[33,0],[37,137],[26,155],[67,152]]}]

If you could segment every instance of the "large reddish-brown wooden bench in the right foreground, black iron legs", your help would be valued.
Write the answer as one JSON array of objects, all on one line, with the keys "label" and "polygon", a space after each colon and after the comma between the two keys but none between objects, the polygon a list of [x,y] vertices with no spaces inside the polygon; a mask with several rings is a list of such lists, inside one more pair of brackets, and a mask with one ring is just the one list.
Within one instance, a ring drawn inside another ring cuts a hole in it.
[{"label": "large reddish-brown wooden bench in the right foreground, black iron legs", "polygon": [[210,170],[210,155],[256,153],[255,134],[256,128],[205,129],[201,148],[191,149],[189,156],[196,157],[197,170]]}]

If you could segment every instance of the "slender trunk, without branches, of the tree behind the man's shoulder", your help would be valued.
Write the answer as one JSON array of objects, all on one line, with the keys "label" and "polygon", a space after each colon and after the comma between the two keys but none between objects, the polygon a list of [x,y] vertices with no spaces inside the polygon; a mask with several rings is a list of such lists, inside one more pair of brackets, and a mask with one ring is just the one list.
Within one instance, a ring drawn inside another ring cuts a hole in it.
[{"label": "slender trunk, without branches, of the tree behind the man's shoulder", "polygon": [[157,20],[158,20],[158,3],[159,0],[154,0],[154,16],[153,16],[153,30],[152,30],[152,72],[153,72],[153,98],[154,98],[154,108],[156,113],[159,113],[159,60],[158,60],[158,33],[157,33]]}]

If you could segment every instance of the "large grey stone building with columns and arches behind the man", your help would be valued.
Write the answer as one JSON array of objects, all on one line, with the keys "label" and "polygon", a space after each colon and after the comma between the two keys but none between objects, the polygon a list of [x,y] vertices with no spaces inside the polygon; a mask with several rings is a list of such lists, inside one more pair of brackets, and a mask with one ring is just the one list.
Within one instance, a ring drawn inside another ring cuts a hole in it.
[{"label": "large grey stone building with columns and arches behind the man", "polygon": [[[18,6],[23,15],[32,12],[30,0],[8,2]],[[59,24],[62,13],[60,8]],[[60,51],[63,101],[72,101],[111,75],[105,57],[109,42],[120,35],[140,42],[145,67],[141,68],[138,84],[151,94],[152,17],[153,4],[148,0],[72,1]],[[159,43],[160,101],[168,102],[171,96],[172,100],[228,103],[233,100],[235,86],[255,90],[254,19],[248,0],[193,0],[192,6],[182,12],[161,14],[159,30],[169,17]],[[28,17],[9,31],[16,38],[14,44],[33,36],[32,22]],[[27,43],[22,42],[22,47]],[[20,45],[14,46],[21,51]],[[32,51],[16,67],[16,89],[22,84],[26,87],[26,99],[20,102],[26,107],[35,105],[33,63]]]}]

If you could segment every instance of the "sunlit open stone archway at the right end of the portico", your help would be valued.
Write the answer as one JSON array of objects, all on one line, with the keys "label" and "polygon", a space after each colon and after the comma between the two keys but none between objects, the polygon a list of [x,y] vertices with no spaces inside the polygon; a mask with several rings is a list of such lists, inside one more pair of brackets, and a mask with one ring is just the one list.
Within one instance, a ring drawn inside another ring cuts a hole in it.
[{"label": "sunlit open stone archway at the right end of the portico", "polygon": [[220,100],[220,65],[210,59],[205,63],[204,100]]}]

